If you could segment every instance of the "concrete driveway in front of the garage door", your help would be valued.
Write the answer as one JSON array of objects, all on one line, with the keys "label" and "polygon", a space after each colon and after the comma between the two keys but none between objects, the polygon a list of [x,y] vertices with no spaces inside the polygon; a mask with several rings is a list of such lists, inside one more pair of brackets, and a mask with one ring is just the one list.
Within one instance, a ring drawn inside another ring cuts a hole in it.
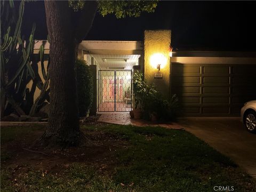
[{"label": "concrete driveway in front of the garage door", "polygon": [[179,124],[256,179],[256,134],[247,132],[238,117],[189,117]]}]

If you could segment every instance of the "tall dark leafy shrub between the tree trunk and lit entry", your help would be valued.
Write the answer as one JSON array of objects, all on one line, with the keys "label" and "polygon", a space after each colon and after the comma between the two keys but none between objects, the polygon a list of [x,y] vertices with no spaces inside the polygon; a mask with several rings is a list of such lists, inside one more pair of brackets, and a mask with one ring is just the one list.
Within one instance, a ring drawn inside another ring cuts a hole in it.
[{"label": "tall dark leafy shrub between the tree trunk and lit entry", "polygon": [[76,60],[76,78],[79,116],[89,115],[93,98],[93,82],[90,67],[84,60]]}]

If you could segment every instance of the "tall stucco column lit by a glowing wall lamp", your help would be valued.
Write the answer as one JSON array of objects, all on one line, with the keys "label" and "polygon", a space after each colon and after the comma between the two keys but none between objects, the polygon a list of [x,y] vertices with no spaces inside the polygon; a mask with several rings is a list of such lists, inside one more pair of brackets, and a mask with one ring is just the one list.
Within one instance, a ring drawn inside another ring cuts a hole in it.
[{"label": "tall stucco column lit by a glowing wall lamp", "polygon": [[[146,30],[144,39],[144,73],[146,81],[154,83],[166,99],[170,97],[170,55],[171,30]],[[156,67],[160,65],[160,70]],[[162,74],[162,78],[155,78]]]}]

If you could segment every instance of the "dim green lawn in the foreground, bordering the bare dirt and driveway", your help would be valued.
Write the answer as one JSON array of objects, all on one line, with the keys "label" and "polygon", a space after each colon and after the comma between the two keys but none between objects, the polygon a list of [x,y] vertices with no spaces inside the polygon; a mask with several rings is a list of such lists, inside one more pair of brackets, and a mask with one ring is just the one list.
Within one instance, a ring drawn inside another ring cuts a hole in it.
[{"label": "dim green lawn in the foreground, bordering the bare dirt and driveway", "polygon": [[[2,191],[213,191],[214,186],[254,191],[255,183],[249,175],[186,131],[122,125],[82,129],[107,132],[130,143],[116,152],[115,173],[102,173],[94,166],[78,162],[58,175],[29,169],[15,184],[5,168],[1,170]],[[15,130],[2,131],[1,137],[10,134],[10,141]]]}]

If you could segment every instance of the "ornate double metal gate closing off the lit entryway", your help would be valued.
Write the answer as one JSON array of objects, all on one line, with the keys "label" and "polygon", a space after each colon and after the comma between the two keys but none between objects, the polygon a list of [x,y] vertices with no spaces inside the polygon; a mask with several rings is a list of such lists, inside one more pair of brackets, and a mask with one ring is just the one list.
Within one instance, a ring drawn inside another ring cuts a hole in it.
[{"label": "ornate double metal gate closing off the lit entryway", "polygon": [[132,71],[99,70],[98,111],[132,109]]}]

